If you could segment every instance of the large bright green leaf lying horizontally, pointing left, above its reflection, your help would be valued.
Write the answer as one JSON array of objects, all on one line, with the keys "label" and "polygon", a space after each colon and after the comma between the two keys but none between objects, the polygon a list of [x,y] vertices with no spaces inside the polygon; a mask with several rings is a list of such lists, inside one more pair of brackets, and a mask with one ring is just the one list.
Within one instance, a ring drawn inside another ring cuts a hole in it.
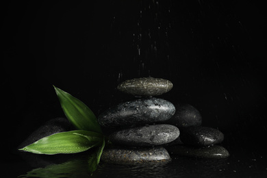
[{"label": "large bright green leaf lying horizontally, pointing left, above its reflection", "polygon": [[93,131],[65,131],[44,137],[20,150],[46,155],[79,153],[100,146],[102,140],[103,136]]}]

